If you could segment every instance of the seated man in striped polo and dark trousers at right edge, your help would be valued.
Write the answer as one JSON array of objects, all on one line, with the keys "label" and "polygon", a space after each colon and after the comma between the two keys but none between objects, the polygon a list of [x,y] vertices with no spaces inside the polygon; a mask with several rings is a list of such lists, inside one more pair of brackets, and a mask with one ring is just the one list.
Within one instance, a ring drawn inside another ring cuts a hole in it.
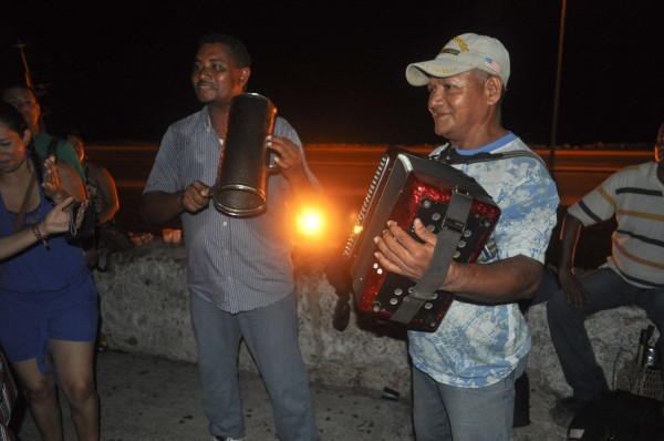
[{"label": "seated man in striped polo and dark trousers at right edge", "polygon": [[[660,331],[664,330],[664,124],[655,144],[655,161],[625,167],[583,196],[567,213],[562,227],[559,280],[562,287],[548,301],[551,339],[573,396],[562,410],[578,410],[608,390],[588,332],[585,317],[636,305]],[[573,274],[574,247],[582,227],[615,216],[612,253],[598,270]],[[664,351],[664,339],[657,343]]]}]

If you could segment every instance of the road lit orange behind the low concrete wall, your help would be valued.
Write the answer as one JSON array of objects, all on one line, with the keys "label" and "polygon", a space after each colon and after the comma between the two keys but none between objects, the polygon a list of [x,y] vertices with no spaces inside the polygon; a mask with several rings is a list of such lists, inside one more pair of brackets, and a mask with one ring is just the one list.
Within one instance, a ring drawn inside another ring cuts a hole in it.
[{"label": "road lit orange behind the low concrete wall", "polygon": [[[324,188],[330,226],[334,228],[330,243],[343,243],[350,235],[355,216],[374,177],[387,145],[311,144],[307,156],[312,171]],[[409,146],[414,153],[426,154],[430,146]],[[117,183],[121,209],[120,225],[132,232],[157,233],[138,216],[141,193],[156,155],[156,145],[91,145],[91,161],[105,165]],[[537,151],[549,164],[549,151]],[[651,161],[652,151],[561,150],[554,154],[553,178],[563,206],[570,205],[595,187],[611,173],[631,164]],[[179,219],[166,226],[179,227]]]}]

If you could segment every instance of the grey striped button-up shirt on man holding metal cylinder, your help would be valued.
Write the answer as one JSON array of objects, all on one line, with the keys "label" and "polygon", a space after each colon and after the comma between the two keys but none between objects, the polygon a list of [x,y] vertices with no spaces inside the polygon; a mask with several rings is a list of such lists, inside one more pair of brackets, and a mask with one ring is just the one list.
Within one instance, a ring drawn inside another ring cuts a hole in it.
[{"label": "grey striped button-up shirt on man holding metal cylinder", "polygon": [[[295,130],[277,117],[274,136],[288,137],[302,152]],[[210,125],[207,106],[172,124],[157,153],[144,193],[175,193],[194,181],[212,185],[222,141]],[[294,219],[289,211],[291,188],[282,174],[270,175],[267,212],[256,217],[230,217],[210,205],[181,215],[188,253],[189,288],[220,309],[235,314],[271,305],[294,290],[291,259]]]}]

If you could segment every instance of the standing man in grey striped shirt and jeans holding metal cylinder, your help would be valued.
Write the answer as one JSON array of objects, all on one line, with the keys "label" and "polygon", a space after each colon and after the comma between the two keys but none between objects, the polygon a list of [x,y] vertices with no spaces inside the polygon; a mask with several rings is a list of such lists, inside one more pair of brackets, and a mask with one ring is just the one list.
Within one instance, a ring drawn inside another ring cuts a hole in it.
[{"label": "standing man in grey striped shirt and jeans holding metal cylinder", "polygon": [[[201,38],[191,81],[205,106],[168,127],[144,191],[142,216],[164,223],[179,215],[183,222],[203,401],[214,439],[245,437],[238,386],[243,339],[272,401],[277,435],[312,441],[319,435],[298,342],[291,228],[294,205],[315,194],[318,182],[297,132],[279,116],[273,126],[262,125],[267,133],[259,141],[267,153],[256,153],[270,168],[267,188],[238,182],[227,186],[218,176],[228,170],[221,164],[224,156],[242,156],[227,150],[229,140],[238,137],[235,131],[246,129],[241,121],[231,127],[237,120],[231,104],[245,95],[250,73],[241,42],[222,34]],[[219,197],[228,188],[239,192],[231,195],[230,205],[246,198],[242,191],[248,189],[259,201],[266,196],[264,209],[260,203],[253,205],[256,211],[228,207]]]}]

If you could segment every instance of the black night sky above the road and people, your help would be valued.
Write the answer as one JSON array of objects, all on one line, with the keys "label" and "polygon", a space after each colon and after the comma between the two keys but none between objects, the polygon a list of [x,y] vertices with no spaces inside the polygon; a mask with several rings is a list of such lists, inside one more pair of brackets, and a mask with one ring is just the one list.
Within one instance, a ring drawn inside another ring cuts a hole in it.
[{"label": "black night sky above the road and people", "polygon": [[[250,92],[270,98],[304,143],[438,143],[408,63],[459,33],[500,39],[511,57],[504,125],[549,144],[561,0],[54,1],[3,6],[3,84],[25,52],[52,133],[158,142],[197,111],[197,39],[219,31],[252,55]],[[279,4],[279,3],[286,3]],[[558,143],[653,143],[664,121],[664,2],[568,0]]]}]

